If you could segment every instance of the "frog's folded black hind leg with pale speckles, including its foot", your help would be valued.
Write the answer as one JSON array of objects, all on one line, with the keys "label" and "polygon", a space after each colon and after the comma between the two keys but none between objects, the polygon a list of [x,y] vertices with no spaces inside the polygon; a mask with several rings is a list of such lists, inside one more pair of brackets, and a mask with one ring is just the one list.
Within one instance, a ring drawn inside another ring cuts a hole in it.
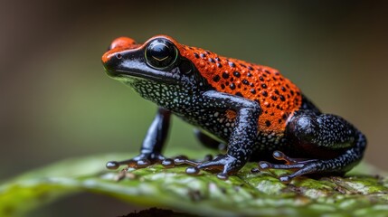
[{"label": "frog's folded black hind leg with pale speckles, including its foot", "polygon": [[316,114],[298,111],[286,129],[295,150],[295,156],[310,159],[296,159],[275,151],[274,157],[286,161],[285,165],[274,165],[265,161],[259,163],[259,170],[290,169],[293,174],[280,177],[288,183],[292,178],[308,174],[341,175],[353,168],[363,157],[366,138],[344,118],[330,114]]}]

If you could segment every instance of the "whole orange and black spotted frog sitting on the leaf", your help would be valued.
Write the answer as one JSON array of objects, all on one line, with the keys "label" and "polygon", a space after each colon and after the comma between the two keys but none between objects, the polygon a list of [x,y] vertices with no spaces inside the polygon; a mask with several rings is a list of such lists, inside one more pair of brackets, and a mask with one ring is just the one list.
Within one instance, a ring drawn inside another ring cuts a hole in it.
[{"label": "whole orange and black spotted frog sitting on the leaf", "polygon": [[[345,118],[323,113],[279,70],[224,57],[160,34],[144,43],[119,37],[102,56],[109,77],[157,106],[138,156],[110,161],[142,168],[187,165],[220,179],[248,162],[252,172],[287,170],[279,180],[303,175],[345,175],[364,156],[366,137]],[[162,154],[172,115],[194,126],[195,135],[221,154],[202,161]],[[283,161],[283,162],[280,162]]]}]

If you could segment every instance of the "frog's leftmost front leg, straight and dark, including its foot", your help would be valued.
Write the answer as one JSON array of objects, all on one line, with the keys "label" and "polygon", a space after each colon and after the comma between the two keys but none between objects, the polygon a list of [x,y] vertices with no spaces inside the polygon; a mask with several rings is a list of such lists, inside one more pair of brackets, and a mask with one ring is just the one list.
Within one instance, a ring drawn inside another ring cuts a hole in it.
[{"label": "frog's leftmost front leg, straight and dark, including its foot", "polygon": [[109,161],[107,168],[117,169],[119,165],[141,168],[147,165],[160,163],[165,160],[162,156],[162,148],[165,145],[168,129],[170,127],[171,111],[158,108],[156,116],[149,126],[147,135],[140,148],[140,155],[124,161]]}]

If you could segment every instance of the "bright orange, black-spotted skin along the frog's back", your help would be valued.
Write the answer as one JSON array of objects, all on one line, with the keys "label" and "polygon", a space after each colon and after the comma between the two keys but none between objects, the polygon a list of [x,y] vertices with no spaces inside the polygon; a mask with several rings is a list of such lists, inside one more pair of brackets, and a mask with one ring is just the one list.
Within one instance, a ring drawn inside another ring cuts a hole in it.
[{"label": "bright orange, black-spotted skin along the frog's back", "polygon": [[[215,90],[260,103],[259,131],[282,134],[286,120],[302,105],[298,87],[278,70],[185,45],[179,52],[191,60]],[[228,117],[234,118],[231,112]]]}]

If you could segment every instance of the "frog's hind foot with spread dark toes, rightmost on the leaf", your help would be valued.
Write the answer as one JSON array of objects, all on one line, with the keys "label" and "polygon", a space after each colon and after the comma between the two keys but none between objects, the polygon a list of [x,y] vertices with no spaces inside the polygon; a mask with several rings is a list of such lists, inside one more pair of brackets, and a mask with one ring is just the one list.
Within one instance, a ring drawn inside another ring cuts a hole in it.
[{"label": "frog's hind foot with spread dark toes, rightmost on the leaf", "polygon": [[252,170],[253,173],[259,171],[268,171],[269,169],[289,169],[295,171],[290,175],[282,175],[279,180],[283,183],[289,183],[291,180],[300,175],[313,174],[321,170],[321,161],[317,159],[298,159],[286,156],[280,151],[274,151],[273,157],[277,160],[286,161],[285,165],[275,165],[266,161],[259,162],[259,168]]}]

